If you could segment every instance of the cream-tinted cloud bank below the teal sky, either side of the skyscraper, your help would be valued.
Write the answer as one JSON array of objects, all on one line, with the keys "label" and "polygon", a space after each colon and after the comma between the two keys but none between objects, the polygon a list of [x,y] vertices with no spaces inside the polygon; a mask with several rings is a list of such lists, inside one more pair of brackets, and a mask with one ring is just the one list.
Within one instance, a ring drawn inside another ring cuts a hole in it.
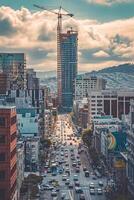
[{"label": "cream-tinted cloud bank below the teal sky, either side of the skyscraper", "polygon": [[[111,66],[134,57],[134,18],[108,23],[69,18],[63,21],[64,29],[70,24],[78,30],[79,70]],[[1,51],[25,52],[28,66],[35,69],[56,69],[55,15],[0,7],[0,26]]]}]

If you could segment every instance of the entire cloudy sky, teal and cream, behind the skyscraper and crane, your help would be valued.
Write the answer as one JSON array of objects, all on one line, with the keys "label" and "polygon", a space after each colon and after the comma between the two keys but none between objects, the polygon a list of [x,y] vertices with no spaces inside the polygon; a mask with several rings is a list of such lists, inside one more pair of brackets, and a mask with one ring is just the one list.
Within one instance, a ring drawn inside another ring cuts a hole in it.
[{"label": "entire cloudy sky, teal and cream, behind the skyscraper and crane", "polygon": [[79,71],[133,62],[134,0],[1,0],[1,52],[25,52],[28,67],[56,69],[56,16],[33,4],[74,13],[63,27],[79,32]]}]

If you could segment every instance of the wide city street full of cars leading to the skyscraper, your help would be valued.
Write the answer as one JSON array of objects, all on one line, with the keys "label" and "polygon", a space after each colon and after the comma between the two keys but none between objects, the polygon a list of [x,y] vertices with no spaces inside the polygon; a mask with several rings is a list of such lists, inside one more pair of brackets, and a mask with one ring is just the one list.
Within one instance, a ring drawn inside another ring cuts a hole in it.
[{"label": "wide city street full of cars leading to the skyscraper", "polygon": [[44,166],[40,200],[105,200],[106,179],[95,176],[86,148],[67,115],[59,116],[52,138],[55,147]]}]

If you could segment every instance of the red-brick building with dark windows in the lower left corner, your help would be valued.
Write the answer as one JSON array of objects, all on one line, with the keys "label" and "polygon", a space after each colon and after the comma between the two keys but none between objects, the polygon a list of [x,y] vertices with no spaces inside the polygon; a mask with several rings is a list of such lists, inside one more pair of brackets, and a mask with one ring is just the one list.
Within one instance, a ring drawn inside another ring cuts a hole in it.
[{"label": "red-brick building with dark windows in the lower left corner", "polygon": [[0,106],[0,200],[17,200],[16,109]]}]

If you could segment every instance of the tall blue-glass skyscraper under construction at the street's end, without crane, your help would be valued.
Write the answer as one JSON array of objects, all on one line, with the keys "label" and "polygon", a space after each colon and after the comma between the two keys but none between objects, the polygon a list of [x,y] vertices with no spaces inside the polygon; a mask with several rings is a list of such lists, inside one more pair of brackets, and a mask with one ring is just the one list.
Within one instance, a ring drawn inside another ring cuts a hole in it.
[{"label": "tall blue-glass skyscraper under construction at the street's end, without crane", "polygon": [[74,81],[77,76],[78,32],[59,32],[57,37],[57,82],[59,107],[70,111],[73,105]]}]

